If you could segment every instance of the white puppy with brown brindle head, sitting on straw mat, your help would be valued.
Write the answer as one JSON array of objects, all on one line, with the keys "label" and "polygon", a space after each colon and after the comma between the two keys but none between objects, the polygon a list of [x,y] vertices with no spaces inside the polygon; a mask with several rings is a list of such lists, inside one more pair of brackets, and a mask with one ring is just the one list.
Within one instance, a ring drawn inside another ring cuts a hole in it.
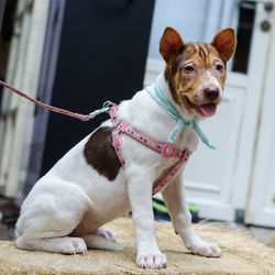
[{"label": "white puppy with brown brindle head, sitting on straw mat", "polygon": [[[209,44],[185,44],[176,30],[165,29],[160,53],[166,68],[156,84],[185,121],[195,123],[216,113],[224,89],[227,62],[235,45],[231,28],[218,32]],[[118,117],[162,142],[167,141],[177,123],[146,89],[122,101]],[[143,268],[166,267],[166,256],[155,238],[152,189],[178,160],[164,157],[128,134],[120,134],[119,160],[113,147],[112,133],[117,129],[112,122],[105,121],[34,185],[16,222],[16,248],[65,254],[85,253],[87,249],[120,251],[122,246],[116,243],[113,232],[100,227],[131,210],[136,264]],[[198,142],[195,128],[185,127],[173,146],[194,152]],[[221,250],[202,241],[191,227],[183,169],[184,165],[162,190],[175,231],[191,253],[218,257]]]}]

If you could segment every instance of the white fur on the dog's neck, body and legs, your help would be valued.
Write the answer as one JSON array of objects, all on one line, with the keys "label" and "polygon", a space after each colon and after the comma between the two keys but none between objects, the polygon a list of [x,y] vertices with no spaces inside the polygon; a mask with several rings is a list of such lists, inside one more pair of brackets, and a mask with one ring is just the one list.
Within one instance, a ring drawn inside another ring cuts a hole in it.
[{"label": "white fur on the dog's neck, body and legs", "polygon": [[[182,116],[190,119],[173,100],[163,75],[157,81]],[[122,101],[119,116],[122,121],[163,142],[167,141],[176,124],[145,90]],[[108,120],[102,125],[112,124]],[[88,139],[73,147],[33,187],[16,223],[16,246],[69,254],[85,253],[87,248],[121,250],[113,234],[99,228],[132,210],[138,265],[165,267],[166,256],[161,253],[155,239],[152,187],[162,172],[177,160],[163,157],[122,135],[125,167],[120,168],[113,182],[109,182],[86,163],[82,152]],[[190,151],[195,151],[197,144],[198,138],[191,128],[185,129],[175,142],[178,148],[188,147]],[[163,195],[174,227],[187,249],[205,256],[219,256],[220,250],[201,241],[191,228],[182,177],[170,183]]]}]

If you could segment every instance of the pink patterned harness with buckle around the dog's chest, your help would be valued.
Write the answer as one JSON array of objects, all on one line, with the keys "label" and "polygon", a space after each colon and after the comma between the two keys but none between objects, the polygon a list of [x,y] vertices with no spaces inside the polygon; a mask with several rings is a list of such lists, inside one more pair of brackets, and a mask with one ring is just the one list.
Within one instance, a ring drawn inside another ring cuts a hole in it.
[{"label": "pink patterned harness with buckle around the dog's chest", "polygon": [[161,191],[162,189],[164,189],[169,184],[169,182],[177,175],[179,168],[184,165],[184,163],[186,163],[188,161],[188,158],[193,152],[189,151],[188,148],[185,148],[184,151],[177,150],[172,144],[157,142],[157,141],[151,139],[148,135],[138,131],[129,123],[121,122],[119,120],[118,111],[119,111],[119,107],[113,106],[110,108],[110,110],[108,112],[111,117],[111,121],[112,121],[112,124],[114,128],[114,130],[112,132],[112,146],[118,155],[118,158],[120,160],[122,167],[124,167],[124,161],[122,158],[122,153],[121,153],[121,142],[120,142],[120,134],[121,133],[128,134],[129,136],[141,142],[145,146],[156,151],[157,153],[160,153],[164,157],[177,157],[177,158],[179,158],[179,161],[170,168],[168,174],[166,176],[164,176],[153,187],[153,195],[155,195],[158,191]]}]

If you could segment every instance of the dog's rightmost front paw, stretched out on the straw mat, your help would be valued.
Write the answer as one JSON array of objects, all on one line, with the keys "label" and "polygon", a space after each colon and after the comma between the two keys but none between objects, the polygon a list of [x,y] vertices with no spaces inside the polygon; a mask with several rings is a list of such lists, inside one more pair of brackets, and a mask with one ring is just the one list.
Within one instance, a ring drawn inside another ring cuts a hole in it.
[{"label": "dog's rightmost front paw, stretched out on the straw mat", "polygon": [[186,245],[191,253],[206,256],[206,257],[219,257],[221,256],[221,250],[212,243],[205,241],[197,241],[190,245]]}]

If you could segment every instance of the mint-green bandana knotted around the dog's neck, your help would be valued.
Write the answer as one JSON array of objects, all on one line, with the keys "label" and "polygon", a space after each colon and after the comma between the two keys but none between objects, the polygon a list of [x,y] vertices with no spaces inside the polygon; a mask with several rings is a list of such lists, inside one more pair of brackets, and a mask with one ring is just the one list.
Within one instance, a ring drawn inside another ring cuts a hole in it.
[{"label": "mint-green bandana knotted around the dog's neck", "polygon": [[215,145],[210,144],[204,132],[200,130],[198,123],[196,121],[188,121],[183,119],[177,109],[165,98],[163,91],[161,90],[158,84],[153,84],[145,88],[151,97],[156,100],[156,102],[162,106],[168,113],[177,121],[177,124],[173,129],[168,143],[172,144],[176,141],[178,134],[183,131],[183,129],[193,127],[193,129],[197,132],[200,140],[210,148],[217,148]]}]

